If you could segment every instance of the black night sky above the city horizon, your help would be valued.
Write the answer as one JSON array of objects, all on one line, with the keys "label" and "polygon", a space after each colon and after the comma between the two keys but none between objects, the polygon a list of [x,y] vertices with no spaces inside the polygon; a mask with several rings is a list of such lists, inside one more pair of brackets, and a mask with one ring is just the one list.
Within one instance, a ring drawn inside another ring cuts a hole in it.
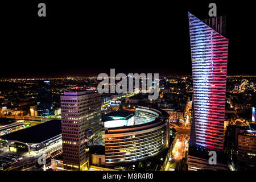
[{"label": "black night sky above the city horizon", "polygon": [[[45,2],[47,17],[37,15]],[[255,75],[255,7],[234,1],[13,1],[1,5],[0,77],[191,74],[188,11],[226,15],[228,74]]]}]

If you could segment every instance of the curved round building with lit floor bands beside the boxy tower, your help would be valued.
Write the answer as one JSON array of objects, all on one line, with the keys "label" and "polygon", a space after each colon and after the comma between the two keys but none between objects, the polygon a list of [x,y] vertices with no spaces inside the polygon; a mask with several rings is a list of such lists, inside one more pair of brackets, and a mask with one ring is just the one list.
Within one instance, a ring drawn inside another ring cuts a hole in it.
[{"label": "curved round building with lit floor bands beside the boxy tower", "polygon": [[168,114],[162,110],[138,107],[133,125],[117,126],[105,133],[106,166],[145,160],[169,145]]}]

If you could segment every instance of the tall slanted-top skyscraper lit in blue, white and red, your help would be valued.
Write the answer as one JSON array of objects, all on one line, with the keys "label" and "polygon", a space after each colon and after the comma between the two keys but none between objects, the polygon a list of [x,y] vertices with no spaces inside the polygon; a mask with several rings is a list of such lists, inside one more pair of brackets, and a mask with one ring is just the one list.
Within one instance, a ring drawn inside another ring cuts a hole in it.
[{"label": "tall slanted-top skyscraper lit in blue, white and red", "polygon": [[225,16],[201,21],[188,13],[193,75],[190,145],[222,151],[228,63]]}]

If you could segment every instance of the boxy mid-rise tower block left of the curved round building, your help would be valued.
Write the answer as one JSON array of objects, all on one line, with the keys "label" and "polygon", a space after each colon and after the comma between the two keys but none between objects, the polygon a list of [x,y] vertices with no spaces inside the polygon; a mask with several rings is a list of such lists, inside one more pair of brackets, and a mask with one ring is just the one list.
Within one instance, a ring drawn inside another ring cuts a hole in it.
[{"label": "boxy mid-rise tower block left of the curved round building", "polygon": [[101,95],[94,90],[65,92],[60,99],[64,170],[83,170],[88,146],[104,142]]}]

